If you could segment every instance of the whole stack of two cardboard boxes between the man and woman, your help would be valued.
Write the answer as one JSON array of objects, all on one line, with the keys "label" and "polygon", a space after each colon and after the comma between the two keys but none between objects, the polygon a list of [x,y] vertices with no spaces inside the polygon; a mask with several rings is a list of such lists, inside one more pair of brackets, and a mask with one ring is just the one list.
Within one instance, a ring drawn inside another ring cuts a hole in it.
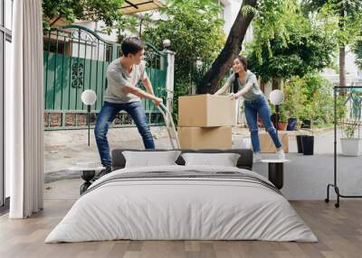
[{"label": "whole stack of two cardboard boxes between the man and woman", "polygon": [[184,149],[229,149],[235,103],[226,96],[178,98],[178,139]]}]

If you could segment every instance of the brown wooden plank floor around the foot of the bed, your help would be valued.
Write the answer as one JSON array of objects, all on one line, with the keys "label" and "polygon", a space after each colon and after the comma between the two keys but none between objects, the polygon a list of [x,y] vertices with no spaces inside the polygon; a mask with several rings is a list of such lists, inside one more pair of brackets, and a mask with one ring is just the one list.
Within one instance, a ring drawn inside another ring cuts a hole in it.
[{"label": "brown wooden plank floor around the foot of the bed", "polygon": [[362,200],[293,201],[319,243],[262,241],[111,241],[43,244],[72,201],[46,201],[42,213],[25,220],[0,217],[0,257],[362,257]]}]

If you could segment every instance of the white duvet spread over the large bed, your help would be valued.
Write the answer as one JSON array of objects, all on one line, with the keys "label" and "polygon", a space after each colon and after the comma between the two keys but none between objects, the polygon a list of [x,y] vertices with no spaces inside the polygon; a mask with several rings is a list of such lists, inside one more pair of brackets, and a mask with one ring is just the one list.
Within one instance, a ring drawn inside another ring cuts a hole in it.
[{"label": "white duvet spread over the large bed", "polygon": [[116,239],[318,241],[286,198],[252,181],[165,178],[104,183],[119,173],[185,170],[237,171],[269,182],[250,170],[230,167],[116,170],[90,186],[45,243]]}]

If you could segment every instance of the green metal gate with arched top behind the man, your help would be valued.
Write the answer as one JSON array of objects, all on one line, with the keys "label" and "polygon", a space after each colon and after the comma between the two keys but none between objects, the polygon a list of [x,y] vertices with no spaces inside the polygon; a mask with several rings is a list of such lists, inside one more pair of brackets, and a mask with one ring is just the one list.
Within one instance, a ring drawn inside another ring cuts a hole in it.
[{"label": "green metal gate with arched top behind the man", "polygon": [[[146,43],[146,71],[155,94],[166,98],[167,56]],[[107,88],[107,68],[121,55],[120,45],[100,38],[88,28],[64,26],[43,33],[44,129],[80,129],[86,126],[86,106],[81,93],[92,89],[97,102],[91,106],[94,125]],[[164,124],[152,101],[142,99],[150,125]],[[115,127],[132,126],[130,116],[120,112]]]}]

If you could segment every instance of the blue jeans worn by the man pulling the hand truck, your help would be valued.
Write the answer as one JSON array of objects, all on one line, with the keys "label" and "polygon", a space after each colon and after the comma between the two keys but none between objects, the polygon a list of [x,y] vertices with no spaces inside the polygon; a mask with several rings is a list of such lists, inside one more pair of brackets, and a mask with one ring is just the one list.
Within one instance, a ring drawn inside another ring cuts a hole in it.
[{"label": "blue jeans worn by the man pulling the hand truck", "polygon": [[152,134],[149,130],[145,109],[140,101],[125,104],[116,104],[105,101],[94,128],[98,152],[100,152],[100,161],[104,166],[111,166],[112,163],[110,160],[110,145],[107,140],[109,125],[121,110],[129,113],[130,117],[137,125],[138,132],[142,136],[145,148],[155,149],[155,143],[153,142]]}]

